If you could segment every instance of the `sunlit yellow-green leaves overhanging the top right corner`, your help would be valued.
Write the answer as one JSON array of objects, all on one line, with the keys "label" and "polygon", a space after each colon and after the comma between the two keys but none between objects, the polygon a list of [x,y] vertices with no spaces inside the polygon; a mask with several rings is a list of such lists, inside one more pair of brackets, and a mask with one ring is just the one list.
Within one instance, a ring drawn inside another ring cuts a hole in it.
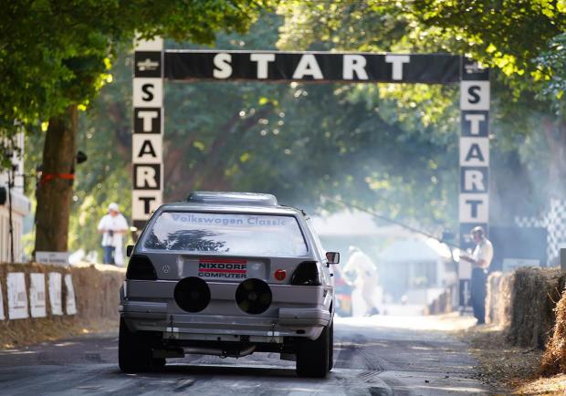
[{"label": "sunlit yellow-green leaves overhanging the top right corner", "polygon": [[414,2],[410,12],[425,26],[434,26],[438,36],[459,38],[457,47],[501,69],[516,84],[522,80],[519,76],[525,82],[541,78],[544,69],[537,57],[566,31],[563,0],[422,0]]}]

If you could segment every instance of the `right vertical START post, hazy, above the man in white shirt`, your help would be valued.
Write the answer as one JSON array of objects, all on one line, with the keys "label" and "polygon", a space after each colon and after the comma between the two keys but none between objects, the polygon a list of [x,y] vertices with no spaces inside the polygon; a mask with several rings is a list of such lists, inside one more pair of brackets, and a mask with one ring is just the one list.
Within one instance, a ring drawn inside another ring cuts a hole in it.
[{"label": "right vertical START post, hazy, above the man in white shirt", "polygon": [[462,57],[460,82],[460,246],[473,247],[470,230],[489,223],[489,71]]}]

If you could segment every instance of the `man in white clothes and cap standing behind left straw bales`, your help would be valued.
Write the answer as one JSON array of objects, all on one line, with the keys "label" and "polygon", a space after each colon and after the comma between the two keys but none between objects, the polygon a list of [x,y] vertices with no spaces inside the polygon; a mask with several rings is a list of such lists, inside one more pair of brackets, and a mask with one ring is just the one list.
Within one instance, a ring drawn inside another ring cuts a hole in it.
[{"label": "man in white clothes and cap standing behind left straw bales", "polygon": [[99,233],[102,234],[102,250],[104,264],[123,266],[122,234],[128,232],[128,222],[121,215],[118,203],[108,205],[108,214],[100,219]]}]

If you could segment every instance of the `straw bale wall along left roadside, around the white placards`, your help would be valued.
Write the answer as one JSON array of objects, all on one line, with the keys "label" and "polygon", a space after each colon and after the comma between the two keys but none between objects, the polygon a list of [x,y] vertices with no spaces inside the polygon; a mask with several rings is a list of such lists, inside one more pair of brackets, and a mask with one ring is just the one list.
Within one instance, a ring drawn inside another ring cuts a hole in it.
[{"label": "straw bale wall along left roadside, around the white placards", "polygon": [[[24,273],[27,293],[27,317],[9,318],[7,276]],[[30,274],[45,274],[45,318],[31,317]],[[66,307],[67,288],[61,285],[62,315],[51,308],[48,274],[72,276],[77,313],[71,315]],[[0,320],[0,348],[11,348],[49,339],[60,339],[92,330],[114,327],[118,321],[119,290],[125,269],[116,266],[83,264],[63,267],[43,264],[0,264],[0,287],[5,318]]]}]

